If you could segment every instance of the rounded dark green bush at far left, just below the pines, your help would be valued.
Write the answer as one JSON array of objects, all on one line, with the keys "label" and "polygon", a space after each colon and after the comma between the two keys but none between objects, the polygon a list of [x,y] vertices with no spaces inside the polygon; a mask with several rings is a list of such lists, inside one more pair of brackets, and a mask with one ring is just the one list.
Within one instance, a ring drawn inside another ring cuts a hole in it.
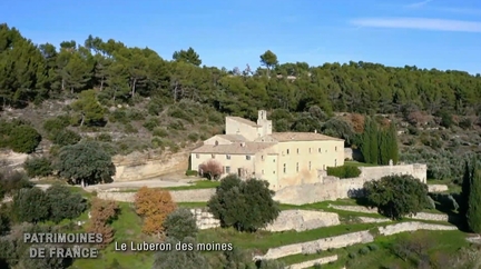
[{"label": "rounded dark green bush at far left, just below the pines", "polygon": [[41,136],[30,126],[18,126],[9,136],[10,148],[19,153],[31,153],[41,141]]}]

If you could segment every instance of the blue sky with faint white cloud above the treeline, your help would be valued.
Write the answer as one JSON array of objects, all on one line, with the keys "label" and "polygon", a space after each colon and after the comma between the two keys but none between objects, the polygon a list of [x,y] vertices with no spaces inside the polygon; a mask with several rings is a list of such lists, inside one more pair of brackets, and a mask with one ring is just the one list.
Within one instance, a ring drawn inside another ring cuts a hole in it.
[{"label": "blue sky with faint white cloud above the treeline", "polygon": [[481,73],[479,0],[18,0],[0,23],[35,43],[89,34],[171,59],[194,48],[203,64],[243,70],[266,50],[278,61],[364,61]]}]

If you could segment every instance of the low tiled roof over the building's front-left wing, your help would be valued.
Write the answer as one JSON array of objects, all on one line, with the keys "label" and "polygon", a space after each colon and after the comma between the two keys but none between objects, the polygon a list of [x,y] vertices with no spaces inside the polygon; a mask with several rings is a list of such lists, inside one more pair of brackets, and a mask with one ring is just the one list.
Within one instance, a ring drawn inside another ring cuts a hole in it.
[{"label": "low tiled roof over the building's front-left wing", "polygon": [[193,153],[212,153],[212,155],[255,155],[261,150],[271,148],[276,143],[265,142],[244,142],[244,147],[240,143],[232,145],[204,145],[193,150]]}]

